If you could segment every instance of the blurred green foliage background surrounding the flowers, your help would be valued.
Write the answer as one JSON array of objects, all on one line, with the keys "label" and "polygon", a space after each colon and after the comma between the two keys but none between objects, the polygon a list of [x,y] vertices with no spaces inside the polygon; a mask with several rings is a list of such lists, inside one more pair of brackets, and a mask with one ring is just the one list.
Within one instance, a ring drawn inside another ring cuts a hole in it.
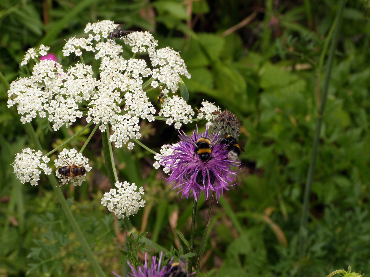
[{"label": "blurred green foliage background surrounding the flowers", "polygon": [[[215,102],[242,123],[242,170],[238,184],[214,206],[204,274],[326,276],[349,264],[370,273],[369,5],[348,1],[344,9],[310,196],[307,254],[300,259],[303,191],[336,0],[1,1],[0,276],[93,274],[55,201],[54,184],[42,178],[37,187],[21,185],[12,173],[15,153],[32,146],[16,108],[7,108],[6,92],[11,81],[27,74],[19,62],[29,47],[45,44],[62,58],[65,39],[81,36],[88,22],[105,19],[125,23],[128,30],[151,31],[159,47],[181,51],[192,75],[184,80],[189,103]],[[149,97],[155,101],[157,96]],[[65,128],[48,132],[42,119],[33,124],[45,150],[71,135]],[[177,131],[162,122],[143,123],[142,131],[142,142],[154,150],[177,139]],[[88,134],[71,147],[81,147]],[[64,192],[109,276],[112,270],[121,272],[119,249],[125,246],[117,233],[121,223],[114,228],[113,217],[100,205],[110,185],[98,135],[84,152],[95,172],[82,187]],[[146,191],[147,204],[132,217],[134,226],[166,249],[178,249],[181,239],[173,228],[189,239],[191,199],[180,201],[142,148],[119,149],[115,155],[121,180]],[[195,249],[208,204],[198,203]]]}]

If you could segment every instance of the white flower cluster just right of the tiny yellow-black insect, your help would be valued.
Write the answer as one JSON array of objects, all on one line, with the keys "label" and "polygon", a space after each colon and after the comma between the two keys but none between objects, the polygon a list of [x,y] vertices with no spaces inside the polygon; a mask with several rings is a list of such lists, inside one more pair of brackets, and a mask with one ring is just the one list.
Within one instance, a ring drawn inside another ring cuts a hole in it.
[{"label": "white flower cluster just right of the tiny yellow-black insect", "polygon": [[181,122],[184,124],[191,122],[194,111],[183,98],[175,95],[173,98],[167,97],[163,100],[158,114],[167,118],[166,124],[171,125],[175,122],[175,129],[180,129],[182,126]]}]

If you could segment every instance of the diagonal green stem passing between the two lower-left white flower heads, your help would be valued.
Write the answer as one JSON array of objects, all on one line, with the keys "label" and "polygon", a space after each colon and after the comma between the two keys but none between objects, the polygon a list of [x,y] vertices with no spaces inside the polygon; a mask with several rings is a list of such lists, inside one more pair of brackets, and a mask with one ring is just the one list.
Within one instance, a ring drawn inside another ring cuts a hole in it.
[{"label": "diagonal green stem passing between the two lower-left white flower heads", "polygon": [[[35,150],[42,151],[40,141],[38,140],[38,138],[36,136],[36,133],[35,133],[35,130],[33,129],[31,123],[26,123],[25,124],[25,129],[26,129],[28,135],[30,136],[34,147],[36,148]],[[50,175],[48,175],[48,179],[49,179],[50,183],[53,184],[52,187],[54,189],[55,196],[57,197],[58,202],[59,202],[59,204],[61,205],[61,207],[63,209],[64,215],[68,219],[68,222],[70,223],[70,225],[73,229],[73,232],[76,236],[76,240],[81,244],[81,247],[82,247],[82,249],[85,252],[85,255],[87,257],[87,260],[90,262],[91,267],[94,270],[96,276],[105,277],[105,274],[102,271],[102,269],[101,269],[100,265],[98,264],[97,260],[95,259],[94,254],[92,253],[92,251],[91,251],[83,233],[81,232],[80,227],[77,224],[77,221],[75,220],[75,218],[74,218],[74,216],[71,212],[70,207],[67,204],[67,201],[65,201],[65,198],[64,198],[64,195],[63,195],[61,189],[56,188],[55,185],[54,185],[54,184],[57,183],[57,178],[55,178],[54,174],[50,174]]]}]

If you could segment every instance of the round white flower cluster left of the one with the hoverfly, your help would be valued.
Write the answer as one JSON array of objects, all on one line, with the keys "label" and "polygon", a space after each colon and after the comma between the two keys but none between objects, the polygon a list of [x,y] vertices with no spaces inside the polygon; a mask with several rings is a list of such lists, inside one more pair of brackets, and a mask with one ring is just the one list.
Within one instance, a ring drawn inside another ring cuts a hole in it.
[{"label": "round white flower cluster left of the one with the hoverfly", "polygon": [[51,168],[48,167],[50,159],[43,156],[39,150],[25,148],[21,153],[16,154],[16,159],[13,163],[14,173],[22,184],[30,182],[31,185],[36,186],[37,181],[40,180],[40,173],[44,171],[46,175],[51,174]]}]

